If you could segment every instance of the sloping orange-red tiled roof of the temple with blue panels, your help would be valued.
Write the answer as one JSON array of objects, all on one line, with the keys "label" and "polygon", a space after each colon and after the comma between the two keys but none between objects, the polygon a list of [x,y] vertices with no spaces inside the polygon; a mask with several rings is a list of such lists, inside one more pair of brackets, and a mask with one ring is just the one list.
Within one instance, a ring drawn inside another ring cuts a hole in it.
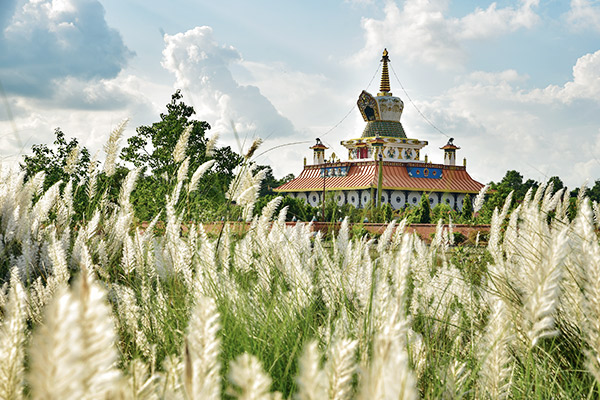
[{"label": "sloping orange-red tiled roof of the temple with blue panels", "polygon": [[[378,164],[376,161],[349,161],[326,165],[307,165],[296,179],[281,185],[275,191],[322,191],[324,166],[334,169],[336,167],[348,168],[345,176],[325,178],[327,191],[375,188],[377,187]],[[386,190],[478,193],[483,187],[481,183],[471,178],[465,167],[454,165],[383,162],[382,175],[382,188]]]}]

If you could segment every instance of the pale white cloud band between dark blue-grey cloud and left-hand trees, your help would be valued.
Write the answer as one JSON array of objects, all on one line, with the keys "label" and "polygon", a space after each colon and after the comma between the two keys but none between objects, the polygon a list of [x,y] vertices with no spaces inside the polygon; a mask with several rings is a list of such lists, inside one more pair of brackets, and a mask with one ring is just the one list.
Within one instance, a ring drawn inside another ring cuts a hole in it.
[{"label": "pale white cloud band between dark blue-grey cloud and left-hand trees", "polygon": [[15,163],[33,144],[51,146],[56,128],[68,138],[76,137],[94,154],[123,118],[130,118],[125,136],[137,126],[156,121],[171,93],[170,86],[121,73],[115,79],[92,83],[65,79],[60,93],[50,99],[11,95],[12,120],[6,108],[0,107],[0,157],[4,164]]}]

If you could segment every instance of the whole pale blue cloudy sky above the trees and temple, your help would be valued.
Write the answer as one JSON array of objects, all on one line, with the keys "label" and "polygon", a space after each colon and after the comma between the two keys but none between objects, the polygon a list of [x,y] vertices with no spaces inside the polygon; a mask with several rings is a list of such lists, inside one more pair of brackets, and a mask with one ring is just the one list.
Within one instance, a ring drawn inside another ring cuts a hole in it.
[{"label": "whole pale blue cloudy sky above the trees and temple", "polygon": [[482,183],[600,179],[597,0],[0,0],[0,157],[61,128],[101,159],[181,89],[219,145],[260,137],[256,161],[297,176],[317,137],[346,159],[384,48],[429,160],[453,137]]}]

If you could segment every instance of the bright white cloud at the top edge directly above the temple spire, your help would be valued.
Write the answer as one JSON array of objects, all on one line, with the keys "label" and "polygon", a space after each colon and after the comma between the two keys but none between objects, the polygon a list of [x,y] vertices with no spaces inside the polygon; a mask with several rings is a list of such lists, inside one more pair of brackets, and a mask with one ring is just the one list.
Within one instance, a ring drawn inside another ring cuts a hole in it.
[{"label": "bright white cloud at the top edge directly above the temple spire", "polygon": [[431,64],[439,69],[462,66],[466,54],[465,40],[485,39],[521,28],[531,28],[539,20],[534,8],[539,0],[522,0],[519,7],[477,8],[462,17],[448,17],[447,0],[406,1],[402,9],[388,1],[383,19],[364,18],[365,46],[353,61],[362,63],[381,51],[382,43],[390,43],[394,54],[408,61]]}]

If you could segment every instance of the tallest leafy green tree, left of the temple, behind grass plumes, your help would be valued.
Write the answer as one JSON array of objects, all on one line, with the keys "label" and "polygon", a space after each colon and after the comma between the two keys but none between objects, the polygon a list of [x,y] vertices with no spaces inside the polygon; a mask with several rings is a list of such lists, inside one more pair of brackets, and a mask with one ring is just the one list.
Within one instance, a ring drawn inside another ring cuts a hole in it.
[{"label": "tallest leafy green tree, left of the temple, behind grass plumes", "polygon": [[121,159],[141,168],[145,174],[139,179],[132,202],[136,216],[142,220],[153,218],[165,205],[166,195],[175,184],[179,168],[173,158],[177,141],[183,131],[191,126],[185,155],[190,159],[188,175],[209,159],[215,160],[212,171],[200,181],[198,191],[182,199],[186,203],[186,218],[202,218],[210,215],[209,209],[219,209],[225,202],[225,192],[233,178],[233,170],[242,157],[230,147],[216,148],[211,156],[206,154],[208,139],[205,133],[210,125],[205,121],[192,119],[196,113],[192,106],[183,101],[177,90],[167,104],[167,112],[160,114],[160,121],[148,126],[140,126],[136,134],[127,140],[121,151]]}]

